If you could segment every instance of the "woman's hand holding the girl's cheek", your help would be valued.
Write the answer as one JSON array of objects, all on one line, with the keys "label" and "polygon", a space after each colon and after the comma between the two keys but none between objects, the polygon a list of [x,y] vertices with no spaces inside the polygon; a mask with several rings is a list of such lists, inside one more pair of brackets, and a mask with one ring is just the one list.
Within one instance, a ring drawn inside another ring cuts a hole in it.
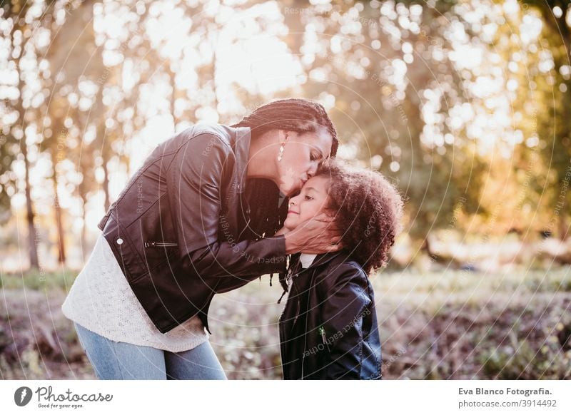
[{"label": "woman's hand holding the girl's cheek", "polygon": [[282,228],[276,235],[285,236],[285,253],[305,252],[307,254],[323,254],[343,248],[341,235],[335,220],[322,213],[305,222],[301,222],[294,230]]}]

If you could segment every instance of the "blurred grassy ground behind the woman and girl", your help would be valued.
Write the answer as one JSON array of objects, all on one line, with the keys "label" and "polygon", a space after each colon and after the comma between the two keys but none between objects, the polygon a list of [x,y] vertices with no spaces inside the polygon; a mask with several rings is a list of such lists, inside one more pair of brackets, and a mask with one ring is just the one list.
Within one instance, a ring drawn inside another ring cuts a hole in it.
[{"label": "blurred grassy ground behind the woman and girl", "polygon": [[[0,378],[94,379],[61,303],[76,272],[0,278]],[[571,379],[571,268],[371,277],[385,379]],[[211,343],[230,379],[281,379],[277,304],[263,277],[215,297]]]}]

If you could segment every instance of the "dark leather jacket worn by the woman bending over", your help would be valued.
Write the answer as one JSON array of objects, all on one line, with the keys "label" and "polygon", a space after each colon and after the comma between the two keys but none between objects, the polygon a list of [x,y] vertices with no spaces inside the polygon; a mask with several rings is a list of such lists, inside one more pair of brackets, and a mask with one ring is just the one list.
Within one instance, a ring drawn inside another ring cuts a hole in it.
[{"label": "dark leather jacket worn by the woman bending over", "polygon": [[243,240],[249,148],[250,128],[194,125],[174,135],[153,150],[98,224],[163,333],[196,314],[210,331],[216,292],[285,272],[283,236]]}]

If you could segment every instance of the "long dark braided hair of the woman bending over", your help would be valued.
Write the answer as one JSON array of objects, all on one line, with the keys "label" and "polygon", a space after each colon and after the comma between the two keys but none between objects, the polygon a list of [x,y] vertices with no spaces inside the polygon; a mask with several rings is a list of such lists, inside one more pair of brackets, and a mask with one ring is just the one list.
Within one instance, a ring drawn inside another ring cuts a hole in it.
[{"label": "long dark braided hair of the woman bending over", "polygon": [[[337,131],[325,108],[320,103],[305,98],[286,98],[266,103],[231,127],[249,127],[251,140],[257,140],[270,130],[290,130],[303,134],[315,133],[324,127],[333,138],[331,157],[335,157],[339,146]],[[245,197],[251,207],[252,219],[248,226],[253,235],[251,233],[244,237],[258,239],[275,235],[288,215],[288,198],[283,199],[276,184],[264,179],[248,180]],[[284,293],[287,292],[286,275],[280,274],[279,280]]]}]

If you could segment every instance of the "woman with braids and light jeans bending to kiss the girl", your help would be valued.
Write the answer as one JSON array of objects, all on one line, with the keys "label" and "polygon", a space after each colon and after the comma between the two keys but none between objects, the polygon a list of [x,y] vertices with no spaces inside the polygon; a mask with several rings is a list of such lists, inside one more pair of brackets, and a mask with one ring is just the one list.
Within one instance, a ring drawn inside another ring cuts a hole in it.
[{"label": "woman with braids and light jeans bending to kiss the girl", "polygon": [[285,272],[290,253],[338,250],[323,217],[273,236],[284,201],[337,146],[323,106],[299,98],[158,145],[99,223],[62,306],[98,378],[226,379],[206,333],[213,294]]}]

